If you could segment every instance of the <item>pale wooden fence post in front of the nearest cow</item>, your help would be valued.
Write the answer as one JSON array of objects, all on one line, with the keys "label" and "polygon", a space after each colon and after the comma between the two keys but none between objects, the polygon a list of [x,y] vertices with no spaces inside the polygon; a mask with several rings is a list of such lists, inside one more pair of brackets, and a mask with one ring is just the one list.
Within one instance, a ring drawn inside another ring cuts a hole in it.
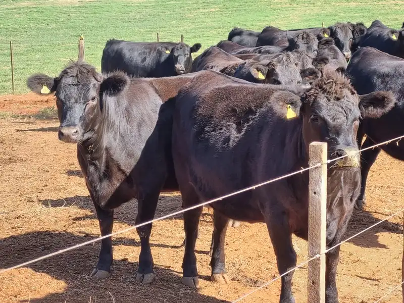
[{"label": "pale wooden fence post in front of the nearest cow", "polygon": [[[327,143],[309,146],[309,165],[327,162]],[[327,164],[309,171],[309,259],[308,302],[325,303],[325,249],[327,220]]]}]

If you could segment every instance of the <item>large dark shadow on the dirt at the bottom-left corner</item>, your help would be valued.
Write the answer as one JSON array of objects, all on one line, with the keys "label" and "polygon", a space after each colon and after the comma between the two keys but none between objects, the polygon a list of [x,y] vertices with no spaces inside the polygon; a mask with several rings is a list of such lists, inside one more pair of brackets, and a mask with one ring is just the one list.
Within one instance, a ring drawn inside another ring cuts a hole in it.
[{"label": "large dark shadow on the dirt at the bottom-left corner", "polygon": [[[57,251],[63,247],[90,240],[95,235],[77,235],[70,232],[39,231],[10,236],[0,239],[1,269],[9,268],[23,262],[46,255],[48,252]],[[132,241],[125,237],[118,237],[114,242],[126,245],[126,241]],[[155,266],[156,279],[150,285],[142,285],[136,282],[137,262],[130,262],[127,258],[115,259],[112,266],[112,274],[108,279],[98,280],[90,277],[93,266],[97,262],[100,243],[95,242],[77,249],[64,252],[45,260],[27,265],[36,273],[28,275],[24,279],[27,289],[37,286],[36,279],[48,280],[50,289],[54,292],[42,297],[20,299],[25,303],[54,303],[54,302],[202,302],[219,303],[227,302],[215,297],[202,295],[196,290],[186,288],[181,284],[181,274],[171,268]],[[178,260],[181,262],[181,260]],[[43,275],[48,275],[48,277]],[[16,275],[5,275],[4,279],[13,279]],[[209,280],[208,277],[200,277]],[[35,280],[34,280],[35,279]],[[49,283],[49,280],[51,282]],[[66,285],[61,291],[52,288],[55,280],[63,281]],[[11,282],[13,282],[11,280]],[[31,284],[31,285],[30,285]]]}]

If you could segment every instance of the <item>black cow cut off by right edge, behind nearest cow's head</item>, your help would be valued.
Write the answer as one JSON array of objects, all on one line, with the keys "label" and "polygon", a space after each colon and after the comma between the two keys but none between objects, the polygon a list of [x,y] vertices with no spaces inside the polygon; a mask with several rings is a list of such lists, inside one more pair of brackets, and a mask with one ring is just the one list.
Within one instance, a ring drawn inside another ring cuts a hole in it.
[{"label": "black cow cut off by right edge, behind nearest cow's head", "polygon": [[[358,132],[358,143],[366,134],[362,148],[399,137],[404,134],[404,60],[378,51],[373,47],[359,49],[346,69],[346,75],[351,79],[359,93],[369,93],[378,90],[390,90],[398,103],[386,115],[379,119],[364,119]],[[358,198],[358,207],[362,208],[366,201],[366,179],[380,150],[395,159],[404,161],[404,145],[402,141],[383,144],[365,150],[361,153],[362,188]]]}]

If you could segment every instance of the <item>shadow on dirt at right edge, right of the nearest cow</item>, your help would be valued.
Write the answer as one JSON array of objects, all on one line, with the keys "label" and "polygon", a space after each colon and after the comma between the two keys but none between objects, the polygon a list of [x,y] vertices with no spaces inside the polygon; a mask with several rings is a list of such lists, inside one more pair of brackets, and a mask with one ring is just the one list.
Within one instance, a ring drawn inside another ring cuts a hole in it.
[{"label": "shadow on dirt at right edge, right of the nearest cow", "polygon": [[[345,239],[354,236],[362,230],[380,222],[382,220],[375,218],[372,213],[365,210],[355,210],[349,220]],[[380,243],[378,233],[388,232],[394,234],[402,234],[402,225],[384,221],[379,225],[365,231],[364,233],[350,239],[348,242],[365,248],[386,248],[388,247]]]}]

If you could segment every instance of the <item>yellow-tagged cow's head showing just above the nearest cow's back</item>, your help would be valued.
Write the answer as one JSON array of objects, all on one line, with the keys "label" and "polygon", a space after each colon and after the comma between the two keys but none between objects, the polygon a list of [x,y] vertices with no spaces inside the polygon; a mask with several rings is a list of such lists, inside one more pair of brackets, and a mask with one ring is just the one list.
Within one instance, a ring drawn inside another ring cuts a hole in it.
[{"label": "yellow-tagged cow's head showing just above the nearest cow's back", "polygon": [[300,70],[299,62],[291,53],[280,53],[268,61],[248,60],[241,64],[234,77],[255,83],[306,85],[320,76],[315,68]]}]

